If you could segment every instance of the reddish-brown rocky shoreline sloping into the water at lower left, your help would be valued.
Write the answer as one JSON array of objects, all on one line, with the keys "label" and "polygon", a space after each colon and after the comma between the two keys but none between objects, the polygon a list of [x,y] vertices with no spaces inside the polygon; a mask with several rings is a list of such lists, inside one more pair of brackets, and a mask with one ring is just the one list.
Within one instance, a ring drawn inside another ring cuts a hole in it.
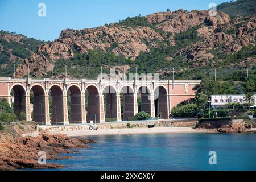
[{"label": "reddish-brown rocky shoreline sloping into the water at lower left", "polygon": [[[35,127],[9,125],[0,131],[0,170],[61,168],[62,165],[48,163],[47,160],[68,159],[68,156],[56,155],[76,152],[69,149],[88,148],[88,143],[95,143],[90,139],[69,138],[65,134],[51,134],[45,131],[39,131],[38,137],[21,137],[24,131],[33,131]],[[40,163],[43,162],[44,152],[46,164]]]}]

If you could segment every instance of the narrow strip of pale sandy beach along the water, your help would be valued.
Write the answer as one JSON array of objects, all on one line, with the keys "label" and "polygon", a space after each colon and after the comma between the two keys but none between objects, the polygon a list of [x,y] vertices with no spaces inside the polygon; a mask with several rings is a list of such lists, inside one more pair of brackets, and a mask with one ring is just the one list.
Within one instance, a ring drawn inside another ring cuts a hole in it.
[{"label": "narrow strip of pale sandy beach along the water", "polygon": [[[91,136],[91,135],[122,135],[122,134],[158,134],[158,133],[201,133],[191,127],[154,127],[154,128],[131,128],[131,129],[99,129],[82,131],[58,131],[56,133],[67,134],[68,137]],[[204,131],[206,132],[206,131]]]}]

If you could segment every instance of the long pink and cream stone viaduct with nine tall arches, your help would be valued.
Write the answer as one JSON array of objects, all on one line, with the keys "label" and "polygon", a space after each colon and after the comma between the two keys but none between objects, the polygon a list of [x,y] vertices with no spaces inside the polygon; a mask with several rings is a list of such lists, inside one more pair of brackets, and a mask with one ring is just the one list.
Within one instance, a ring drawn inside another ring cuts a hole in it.
[{"label": "long pink and cream stone viaduct with nine tall arches", "polygon": [[[0,97],[6,98],[10,105],[13,103],[15,114],[24,112],[27,121],[42,122],[44,125],[89,123],[92,120],[105,122],[105,118],[125,121],[139,110],[146,111],[151,117],[168,119],[173,107],[195,97],[192,88],[199,83],[200,80],[36,80],[1,77]],[[33,114],[30,109],[31,93],[34,95]],[[141,98],[140,104],[138,97]]]}]

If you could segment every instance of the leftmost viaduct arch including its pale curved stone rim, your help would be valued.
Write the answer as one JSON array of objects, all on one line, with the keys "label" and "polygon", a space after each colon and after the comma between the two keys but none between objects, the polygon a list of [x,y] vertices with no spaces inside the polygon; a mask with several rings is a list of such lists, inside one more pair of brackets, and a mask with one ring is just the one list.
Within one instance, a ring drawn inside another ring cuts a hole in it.
[{"label": "leftmost viaduct arch including its pale curved stone rim", "polygon": [[11,90],[13,90],[14,93],[14,113],[17,115],[17,117],[20,116],[20,113],[25,113],[27,119],[27,91],[25,86],[22,84],[12,85],[9,96],[11,96]]}]

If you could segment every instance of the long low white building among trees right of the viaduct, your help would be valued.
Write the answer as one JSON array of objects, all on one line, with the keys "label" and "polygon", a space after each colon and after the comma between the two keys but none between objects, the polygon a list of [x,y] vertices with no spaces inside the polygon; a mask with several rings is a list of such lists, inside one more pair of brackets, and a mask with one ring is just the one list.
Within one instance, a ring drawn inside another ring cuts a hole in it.
[{"label": "long low white building among trees right of the viaduct", "polygon": [[[245,95],[212,95],[211,97],[211,105],[212,108],[217,109],[220,106],[225,106],[228,104],[232,104],[232,103],[239,103],[239,104],[244,104]],[[251,101],[251,103],[254,102],[254,105],[256,105],[255,103],[256,100],[256,95],[253,96],[253,100]]]}]

